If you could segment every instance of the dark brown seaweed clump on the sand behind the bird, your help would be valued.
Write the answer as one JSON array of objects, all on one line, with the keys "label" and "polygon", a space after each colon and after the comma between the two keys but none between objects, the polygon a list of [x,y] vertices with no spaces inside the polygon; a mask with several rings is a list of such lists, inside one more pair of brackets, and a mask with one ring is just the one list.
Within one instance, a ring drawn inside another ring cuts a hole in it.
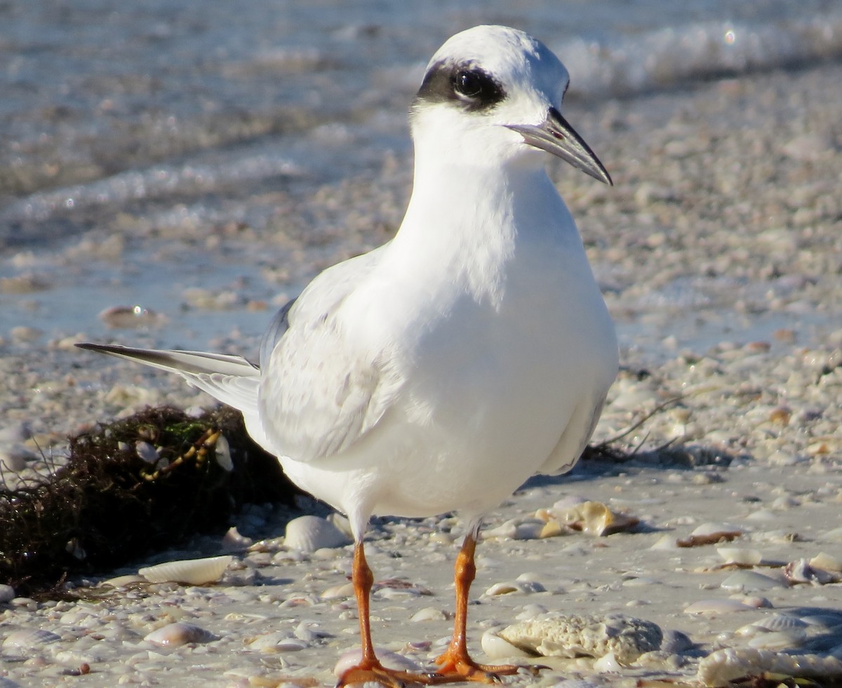
[{"label": "dark brown seaweed clump on the sand behind the bird", "polygon": [[[216,460],[219,432],[232,465]],[[157,449],[156,463],[140,458],[137,442]],[[57,590],[69,575],[221,532],[244,504],[295,494],[237,411],[194,418],[171,407],[143,410],[72,437],[67,464],[47,482],[15,490],[0,483],[0,582],[19,595]]]}]

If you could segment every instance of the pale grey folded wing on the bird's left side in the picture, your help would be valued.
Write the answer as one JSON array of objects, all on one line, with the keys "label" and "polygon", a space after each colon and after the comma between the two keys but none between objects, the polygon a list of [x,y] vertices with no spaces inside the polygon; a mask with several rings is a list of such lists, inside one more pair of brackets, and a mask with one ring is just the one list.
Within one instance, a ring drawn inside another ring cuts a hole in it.
[{"label": "pale grey folded wing on the bird's left side in the picture", "polygon": [[[376,426],[402,385],[386,350],[359,351],[342,305],[380,260],[376,251],[328,268],[286,312],[260,389],[264,431],[276,451],[312,461],[347,449]],[[283,316],[276,320],[280,324]]]}]

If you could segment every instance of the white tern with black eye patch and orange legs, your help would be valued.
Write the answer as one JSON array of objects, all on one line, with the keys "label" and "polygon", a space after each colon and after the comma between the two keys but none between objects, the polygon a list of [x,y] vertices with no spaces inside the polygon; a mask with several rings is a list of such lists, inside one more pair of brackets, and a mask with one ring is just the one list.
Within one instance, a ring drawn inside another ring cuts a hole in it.
[{"label": "white tern with black eye patch and orange legs", "polygon": [[[611,183],[562,117],[568,71],[502,26],[456,34],[413,99],[414,185],[397,235],[329,267],[275,316],[259,367],[202,352],[78,346],[179,373],[242,411],[304,490],[343,511],[362,659],[338,685],[497,680],[466,648],[482,515],[573,467],[618,365],[614,326],[546,152]],[[438,669],[385,669],[369,625],[372,514],[460,511],[453,639]]]}]

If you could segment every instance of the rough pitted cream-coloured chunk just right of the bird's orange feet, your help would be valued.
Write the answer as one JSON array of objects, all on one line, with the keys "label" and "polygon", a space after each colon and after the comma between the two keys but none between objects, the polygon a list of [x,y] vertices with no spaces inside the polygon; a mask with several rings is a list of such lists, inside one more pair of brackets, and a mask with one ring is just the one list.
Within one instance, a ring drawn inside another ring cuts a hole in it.
[{"label": "rough pitted cream-coloured chunk just right of the bird's orange feet", "polygon": [[653,622],[621,614],[537,617],[498,632],[504,640],[545,657],[604,657],[628,664],[660,647],[663,635]]}]

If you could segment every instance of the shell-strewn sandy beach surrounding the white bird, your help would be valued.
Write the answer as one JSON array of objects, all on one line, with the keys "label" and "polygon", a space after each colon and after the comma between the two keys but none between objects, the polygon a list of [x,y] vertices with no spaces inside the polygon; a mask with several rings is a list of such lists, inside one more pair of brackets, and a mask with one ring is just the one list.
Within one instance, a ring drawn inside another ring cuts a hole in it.
[{"label": "shell-strewn sandy beach surrounding the white bird", "polygon": [[[623,439],[626,448],[640,447],[637,458],[580,463],[568,476],[536,479],[489,516],[488,530],[512,527],[513,519],[516,525],[559,500],[581,498],[628,511],[640,525],[608,537],[482,542],[471,648],[484,658],[483,632],[546,612],[621,613],[658,624],[669,643],[626,664],[541,657],[535,661],[549,669],[539,678],[506,683],[695,683],[701,660],[720,648],[842,659],[839,572],[810,579],[802,567],[801,582],[784,573],[786,564],[820,553],[842,560],[839,82],[837,62],[568,104],[566,116],[587,132],[615,181],[607,188],[553,168],[621,336],[623,369],[594,440],[615,437],[671,403]],[[342,216],[348,227],[325,241],[320,263],[285,266],[286,286],[376,246],[397,226],[408,164],[372,175],[287,199],[290,214]],[[121,221],[136,223],[136,241],[156,234],[131,212]],[[296,221],[284,231],[232,230],[216,243],[198,238],[188,222],[173,223],[163,238],[173,252],[199,241],[211,252],[239,243],[248,257],[264,243],[295,248],[303,241]],[[33,261],[35,272],[72,272],[92,254],[108,259],[109,251],[119,259],[126,248],[91,230],[61,256],[22,252],[19,262]],[[237,289],[229,291],[245,309],[248,285]],[[264,308],[269,320],[274,304]],[[210,330],[221,320],[212,346],[256,349],[256,336],[226,328],[224,311],[197,310]],[[141,346],[165,339],[155,329],[115,337]],[[145,405],[210,403],[177,379],[72,347],[87,338],[72,327],[45,336],[22,324],[0,342],[3,456],[24,477],[44,470],[35,447],[60,455],[67,433],[96,421]],[[96,588],[102,599],[79,602],[8,595],[0,601],[0,686],[332,685],[334,664],[358,642],[350,548],[286,548],[285,521],[300,515],[264,507],[243,515],[237,528],[248,540],[227,542],[232,564],[216,585]],[[740,532],[727,547],[752,552],[749,558],[759,553],[759,563],[722,569],[730,555],[714,545],[674,546],[705,524]],[[449,636],[460,527],[455,516],[373,524],[369,560],[376,580],[386,581],[374,595],[375,641],[410,663],[428,664]],[[154,559],[222,549],[221,537],[205,537]],[[738,574],[743,578],[727,583]],[[507,585],[490,590],[495,584]],[[688,611],[694,604],[697,611]],[[740,631],[781,615],[797,622]],[[200,631],[174,647],[145,639],[172,622]]]}]

